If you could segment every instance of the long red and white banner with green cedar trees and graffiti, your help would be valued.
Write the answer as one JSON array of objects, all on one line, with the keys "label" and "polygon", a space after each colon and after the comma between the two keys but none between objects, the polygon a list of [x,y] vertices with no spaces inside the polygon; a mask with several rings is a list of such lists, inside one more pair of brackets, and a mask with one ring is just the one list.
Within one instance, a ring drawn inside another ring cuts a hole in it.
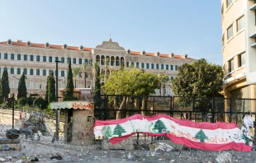
[{"label": "long red and white banner with green cedar trees and graffiti", "polygon": [[175,119],[165,114],[152,117],[135,114],[126,119],[97,120],[94,124],[95,137],[106,136],[111,144],[121,142],[135,133],[165,136],[175,143],[202,150],[252,149],[249,137],[242,133],[236,123],[197,123],[187,119]]}]

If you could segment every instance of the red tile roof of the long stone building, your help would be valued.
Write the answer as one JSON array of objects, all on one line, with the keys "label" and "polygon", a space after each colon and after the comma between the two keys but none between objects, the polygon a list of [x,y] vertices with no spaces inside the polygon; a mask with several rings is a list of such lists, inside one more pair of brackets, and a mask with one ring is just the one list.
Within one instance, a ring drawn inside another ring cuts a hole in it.
[{"label": "red tile roof of the long stone building", "polygon": [[[7,44],[7,41],[0,42],[0,44]],[[20,41],[12,41],[12,45],[17,46],[26,46],[26,42],[20,42]],[[37,44],[37,43],[31,43],[31,47],[37,47],[37,48],[45,48],[45,44]],[[67,46],[67,49],[69,50],[80,50],[80,47],[78,46]],[[56,44],[50,44],[50,49],[63,49],[63,45],[56,45]],[[92,48],[85,48],[83,47],[83,51],[91,51]],[[142,52],[135,52],[130,51],[131,55],[143,55]],[[185,58],[186,54],[183,55],[176,55],[174,54],[173,58]],[[145,53],[145,56],[157,56],[156,53]],[[160,54],[160,57],[164,58],[172,58],[172,54]],[[187,58],[192,59],[192,58]]]}]

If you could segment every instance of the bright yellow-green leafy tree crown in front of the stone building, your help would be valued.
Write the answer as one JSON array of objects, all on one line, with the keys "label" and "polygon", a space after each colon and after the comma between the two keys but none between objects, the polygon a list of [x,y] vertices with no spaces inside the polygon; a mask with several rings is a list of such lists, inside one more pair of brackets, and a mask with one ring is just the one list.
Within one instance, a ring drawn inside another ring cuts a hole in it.
[{"label": "bright yellow-green leafy tree crown in front of the stone building", "polygon": [[161,77],[138,68],[121,68],[111,72],[102,89],[107,95],[149,95],[159,88]]}]

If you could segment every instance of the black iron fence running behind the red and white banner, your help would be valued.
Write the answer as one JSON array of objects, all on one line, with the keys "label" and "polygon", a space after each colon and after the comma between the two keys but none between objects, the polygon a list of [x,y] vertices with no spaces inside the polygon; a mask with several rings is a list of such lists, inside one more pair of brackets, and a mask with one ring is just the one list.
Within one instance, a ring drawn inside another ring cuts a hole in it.
[{"label": "black iron fence running behind the red and white banner", "polygon": [[168,114],[196,122],[235,122],[239,127],[245,114],[256,115],[256,99],[218,97],[101,95],[96,119],[123,119],[133,114]]}]

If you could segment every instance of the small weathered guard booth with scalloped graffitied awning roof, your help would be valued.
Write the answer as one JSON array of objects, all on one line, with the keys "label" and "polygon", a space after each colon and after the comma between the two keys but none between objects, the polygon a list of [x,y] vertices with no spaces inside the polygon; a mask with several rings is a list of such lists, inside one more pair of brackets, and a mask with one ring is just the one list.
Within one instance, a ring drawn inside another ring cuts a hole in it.
[{"label": "small weathered guard booth with scalloped graffitied awning roof", "polygon": [[73,145],[93,142],[94,105],[86,100],[50,103],[50,109],[64,109],[64,140]]}]

